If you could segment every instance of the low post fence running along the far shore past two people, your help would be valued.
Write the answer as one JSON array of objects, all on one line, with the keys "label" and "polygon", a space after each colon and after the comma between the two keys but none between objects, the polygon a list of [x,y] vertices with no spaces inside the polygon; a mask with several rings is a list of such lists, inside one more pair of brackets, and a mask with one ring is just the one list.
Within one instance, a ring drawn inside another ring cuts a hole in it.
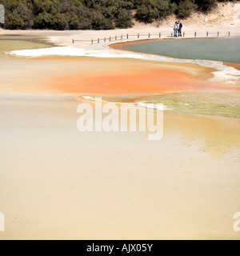
[{"label": "low post fence running along the far shore past two people", "polygon": [[[194,34],[182,32],[183,38],[208,38],[208,37],[220,37],[220,35],[228,35],[230,37],[231,33],[229,32],[208,32],[206,33],[198,33],[194,32]],[[174,32],[171,34],[121,34],[116,35],[114,37],[105,37],[105,38],[98,38],[98,39],[91,39],[91,40],[81,40],[81,39],[73,39],[73,44],[75,42],[89,42],[90,44],[100,44],[101,42],[116,42],[116,41],[123,41],[123,40],[134,40],[134,39],[157,39],[157,38],[174,38]]]}]

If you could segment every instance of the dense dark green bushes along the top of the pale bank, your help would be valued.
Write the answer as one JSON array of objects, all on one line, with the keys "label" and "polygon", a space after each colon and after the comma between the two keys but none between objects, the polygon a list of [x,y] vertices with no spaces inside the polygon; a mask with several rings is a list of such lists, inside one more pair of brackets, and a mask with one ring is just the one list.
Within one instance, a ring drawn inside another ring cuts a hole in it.
[{"label": "dense dark green bushes along the top of the pale bank", "polygon": [[226,0],[0,0],[8,30],[111,30],[129,28],[134,18],[151,23],[171,14],[188,18]]}]

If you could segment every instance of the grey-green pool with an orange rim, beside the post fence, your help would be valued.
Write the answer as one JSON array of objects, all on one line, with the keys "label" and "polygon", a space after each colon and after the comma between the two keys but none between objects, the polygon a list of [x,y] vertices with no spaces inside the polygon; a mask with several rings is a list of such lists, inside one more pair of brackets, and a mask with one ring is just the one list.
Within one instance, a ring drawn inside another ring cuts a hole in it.
[{"label": "grey-green pool with an orange rim, beside the post fence", "polygon": [[125,46],[124,49],[172,58],[240,63],[240,38],[162,40]]}]

